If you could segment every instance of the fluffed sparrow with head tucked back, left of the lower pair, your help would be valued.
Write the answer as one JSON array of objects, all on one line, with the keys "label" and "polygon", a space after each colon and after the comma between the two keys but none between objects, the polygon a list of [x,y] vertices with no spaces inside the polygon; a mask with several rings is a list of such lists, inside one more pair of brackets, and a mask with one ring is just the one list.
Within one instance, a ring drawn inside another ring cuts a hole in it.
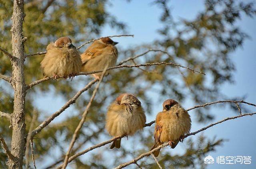
[{"label": "fluffed sparrow with head tucked back, left of the lower pair", "polygon": [[[132,94],[124,93],[108,107],[106,130],[111,136],[132,136],[137,130],[143,130],[146,115],[140,100]],[[110,149],[120,148],[121,139],[114,140]]]}]

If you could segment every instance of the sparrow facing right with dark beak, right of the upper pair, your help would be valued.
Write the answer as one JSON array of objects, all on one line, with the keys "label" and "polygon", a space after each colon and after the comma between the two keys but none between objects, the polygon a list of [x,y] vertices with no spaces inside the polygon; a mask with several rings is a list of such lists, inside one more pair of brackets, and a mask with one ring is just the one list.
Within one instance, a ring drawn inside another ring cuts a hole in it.
[{"label": "sparrow facing right with dark beak, right of the upper pair", "polygon": [[[82,53],[81,72],[91,72],[104,69],[107,65],[116,65],[118,51],[115,45],[118,42],[112,41],[109,37],[94,41],[84,53]],[[102,73],[92,74],[96,79],[100,79]]]}]

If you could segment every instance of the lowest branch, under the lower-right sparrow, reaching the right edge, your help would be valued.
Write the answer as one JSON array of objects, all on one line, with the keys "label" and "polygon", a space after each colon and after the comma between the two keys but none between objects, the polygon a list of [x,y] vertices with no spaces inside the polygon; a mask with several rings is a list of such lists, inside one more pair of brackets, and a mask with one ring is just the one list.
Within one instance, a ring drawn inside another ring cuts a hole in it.
[{"label": "lowest branch, under the lower-right sparrow, reaching the right edge", "polygon": [[[198,134],[199,132],[202,132],[202,131],[206,130],[207,128],[210,128],[210,127],[212,127],[212,126],[214,126],[214,125],[216,125],[216,124],[225,122],[225,121],[227,121],[227,120],[232,120],[232,119],[240,118],[240,117],[243,117],[243,116],[252,116],[252,115],[254,115],[254,114],[256,114],[256,112],[254,112],[254,113],[242,114],[242,115],[239,115],[239,116],[233,116],[233,117],[229,117],[229,118],[225,118],[225,119],[223,119],[223,120],[221,120],[221,121],[218,121],[218,122],[216,122],[216,123],[212,123],[212,124],[210,124],[210,125],[208,125],[208,126],[202,128],[202,129],[200,129],[200,130],[198,130],[198,131],[196,131],[196,132],[187,134],[186,136],[184,136],[184,138],[186,138],[186,137],[188,137],[188,136],[192,136],[192,135]],[[126,166],[128,166],[128,165],[134,163],[134,161],[136,162],[136,161],[142,159],[143,157],[147,157],[147,156],[151,155],[154,151],[156,151],[156,150],[158,150],[158,149],[160,149],[160,148],[162,148],[162,147],[166,147],[167,145],[168,145],[168,143],[164,143],[164,144],[162,144],[162,145],[160,145],[160,146],[158,146],[158,147],[152,149],[151,151],[148,151],[147,153],[143,153],[143,154],[139,155],[138,157],[136,157],[135,159],[132,159],[131,161],[128,161],[128,162],[126,162],[126,163],[122,163],[121,165],[118,165],[118,167],[116,167],[115,169],[124,168],[124,167],[126,167]]]}]

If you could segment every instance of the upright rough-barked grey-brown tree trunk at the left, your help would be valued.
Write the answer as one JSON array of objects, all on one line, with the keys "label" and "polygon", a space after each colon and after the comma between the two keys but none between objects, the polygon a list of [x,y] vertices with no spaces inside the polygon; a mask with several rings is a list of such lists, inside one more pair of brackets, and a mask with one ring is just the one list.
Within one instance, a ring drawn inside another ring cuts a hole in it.
[{"label": "upright rough-barked grey-brown tree trunk at the left", "polygon": [[25,17],[24,1],[14,0],[12,14],[12,86],[14,88],[14,107],[12,113],[12,143],[11,153],[14,159],[8,160],[9,169],[22,169],[26,144],[25,96],[26,84],[24,79],[24,42],[22,24]]}]

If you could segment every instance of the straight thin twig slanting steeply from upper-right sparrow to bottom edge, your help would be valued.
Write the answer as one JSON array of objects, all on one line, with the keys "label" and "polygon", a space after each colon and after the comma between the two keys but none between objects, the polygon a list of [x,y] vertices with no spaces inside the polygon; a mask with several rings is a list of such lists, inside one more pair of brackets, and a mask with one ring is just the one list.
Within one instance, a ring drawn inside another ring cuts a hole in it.
[{"label": "straight thin twig slanting steeply from upper-right sparrow to bottom edge", "polygon": [[79,133],[80,129],[82,128],[83,124],[84,124],[84,121],[85,121],[85,119],[86,119],[86,116],[87,116],[87,114],[88,114],[88,111],[89,111],[89,109],[90,109],[90,106],[92,105],[92,101],[94,100],[94,97],[96,96],[96,93],[98,92],[98,88],[99,88],[99,86],[100,86],[100,83],[101,83],[102,80],[103,80],[103,77],[104,77],[104,75],[105,75],[105,73],[106,73],[107,68],[108,68],[108,65],[104,68],[103,73],[102,73],[102,75],[101,75],[101,77],[100,77],[99,83],[96,85],[94,91],[92,92],[92,96],[91,96],[91,98],[90,98],[90,101],[89,101],[89,103],[87,104],[86,109],[84,110],[84,113],[83,113],[83,115],[82,115],[82,119],[80,120],[78,126],[76,127],[76,130],[75,130],[75,132],[74,132],[74,134],[73,134],[72,140],[71,140],[70,145],[69,145],[69,147],[68,147],[68,151],[67,151],[67,153],[66,153],[65,160],[64,160],[64,165],[63,165],[62,169],[65,169],[66,166],[68,165],[68,158],[69,158],[71,149],[72,149],[72,147],[74,146],[74,143],[75,143],[75,141],[76,141],[76,139],[77,139],[77,137],[78,137],[78,133]]}]

